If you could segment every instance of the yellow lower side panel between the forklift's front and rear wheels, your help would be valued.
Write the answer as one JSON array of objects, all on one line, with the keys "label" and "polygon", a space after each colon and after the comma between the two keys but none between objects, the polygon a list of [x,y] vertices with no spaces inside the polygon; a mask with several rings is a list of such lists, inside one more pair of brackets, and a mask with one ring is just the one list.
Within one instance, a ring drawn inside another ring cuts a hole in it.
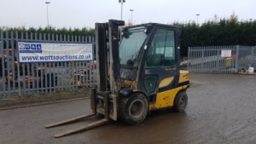
[{"label": "yellow lower side panel between the forklift's front and rear wheels", "polygon": [[182,90],[186,89],[187,86],[181,86],[175,89],[167,90],[164,92],[160,92],[157,94],[156,103],[150,104],[150,110],[156,110],[165,107],[171,107],[174,105],[174,99],[177,93]]}]

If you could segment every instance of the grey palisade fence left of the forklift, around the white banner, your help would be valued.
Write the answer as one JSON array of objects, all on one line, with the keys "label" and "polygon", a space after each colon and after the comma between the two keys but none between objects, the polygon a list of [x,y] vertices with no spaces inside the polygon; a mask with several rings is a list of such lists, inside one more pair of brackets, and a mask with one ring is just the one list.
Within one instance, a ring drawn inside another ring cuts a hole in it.
[{"label": "grey palisade fence left of the forklift, around the white banner", "polygon": [[87,88],[96,84],[95,61],[19,63],[17,41],[92,42],[91,36],[0,33],[0,98]]}]

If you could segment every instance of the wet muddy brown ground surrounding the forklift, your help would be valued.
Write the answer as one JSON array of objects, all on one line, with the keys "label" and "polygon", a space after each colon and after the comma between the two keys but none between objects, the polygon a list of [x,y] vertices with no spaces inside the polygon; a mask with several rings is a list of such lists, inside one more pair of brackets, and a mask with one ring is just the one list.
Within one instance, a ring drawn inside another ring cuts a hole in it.
[{"label": "wet muddy brown ground surrounding the forklift", "polygon": [[62,138],[53,135],[92,120],[44,126],[90,113],[89,99],[1,110],[0,143],[256,143],[255,81],[256,75],[191,74],[185,112],[157,110],[138,126],[111,121]]}]

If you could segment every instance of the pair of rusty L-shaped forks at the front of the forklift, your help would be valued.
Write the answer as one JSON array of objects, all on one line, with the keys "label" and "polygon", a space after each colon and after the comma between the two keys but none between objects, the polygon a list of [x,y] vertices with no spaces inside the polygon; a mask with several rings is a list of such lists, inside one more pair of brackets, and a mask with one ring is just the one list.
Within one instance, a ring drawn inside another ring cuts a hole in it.
[{"label": "pair of rusty L-shaped forks at the front of the forklift", "polygon": [[[101,125],[104,125],[104,124],[108,123],[109,119],[110,119],[109,118],[109,109],[108,109],[108,107],[109,107],[109,94],[110,94],[110,92],[108,92],[108,91],[105,91],[102,94],[103,99],[104,99],[104,118],[103,119],[100,119],[99,121],[87,124],[86,126],[81,126],[81,127],[75,128],[75,129],[71,129],[71,130],[56,134],[56,135],[54,135],[54,137],[57,138],[57,137],[70,135],[70,134],[73,134],[73,133],[89,130],[89,129],[92,129],[92,128],[95,128],[95,127],[98,127],[98,126],[101,126]],[[45,127],[46,128],[51,128],[51,127],[56,127],[56,126],[60,126],[60,125],[65,125],[65,124],[70,124],[70,123],[73,123],[73,122],[77,122],[77,121],[79,121],[81,119],[85,119],[85,118],[92,118],[93,116],[95,116],[97,114],[97,103],[96,103],[96,101],[97,101],[96,100],[96,88],[92,88],[91,89],[91,109],[92,109],[91,114],[77,116],[75,118],[70,118],[70,119],[67,119],[65,121],[61,121],[61,122],[57,122],[57,123],[54,123],[54,124],[46,125]]]}]

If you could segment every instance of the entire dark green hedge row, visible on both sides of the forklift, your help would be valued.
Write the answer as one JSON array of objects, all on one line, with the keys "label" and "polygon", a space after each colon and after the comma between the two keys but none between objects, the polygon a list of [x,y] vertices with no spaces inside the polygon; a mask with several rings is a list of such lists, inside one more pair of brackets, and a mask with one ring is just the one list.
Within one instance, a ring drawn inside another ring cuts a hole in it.
[{"label": "entire dark green hedge row, visible on both sides of the forklift", "polygon": [[[238,20],[234,13],[229,18],[218,18],[207,20],[202,25],[192,22],[174,22],[172,25],[182,27],[181,56],[187,56],[189,46],[218,46],[218,45],[256,45],[256,21]],[[0,31],[4,28],[0,28]],[[61,35],[94,36],[95,30],[82,29],[55,29],[55,28],[11,28],[7,31],[18,31],[30,33],[46,33]]]}]

